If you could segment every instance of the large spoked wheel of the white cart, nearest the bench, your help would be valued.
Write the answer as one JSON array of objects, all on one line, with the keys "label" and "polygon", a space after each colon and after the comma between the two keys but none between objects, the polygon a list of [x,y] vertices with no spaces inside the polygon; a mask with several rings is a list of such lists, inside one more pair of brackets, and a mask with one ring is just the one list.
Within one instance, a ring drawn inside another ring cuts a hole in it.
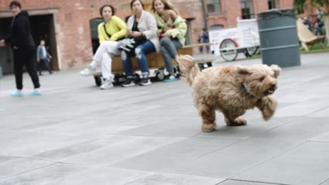
[{"label": "large spoked wheel of the white cart, nearest the bench", "polygon": [[238,49],[236,49],[236,47],[238,46],[232,39],[224,39],[221,42],[221,45],[219,46],[219,49],[221,51],[221,57],[226,61],[235,60],[238,56]]}]

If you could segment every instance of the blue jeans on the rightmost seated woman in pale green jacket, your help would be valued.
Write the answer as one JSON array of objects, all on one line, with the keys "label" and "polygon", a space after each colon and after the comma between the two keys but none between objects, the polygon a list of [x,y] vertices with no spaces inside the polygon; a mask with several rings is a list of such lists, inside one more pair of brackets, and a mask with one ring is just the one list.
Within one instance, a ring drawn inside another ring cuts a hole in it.
[{"label": "blue jeans on the rightmost seated woman in pale green jacket", "polygon": [[160,39],[161,52],[166,64],[166,69],[169,73],[173,73],[173,61],[172,58],[176,58],[176,49],[182,48],[182,43],[179,40],[171,40],[169,37]]}]

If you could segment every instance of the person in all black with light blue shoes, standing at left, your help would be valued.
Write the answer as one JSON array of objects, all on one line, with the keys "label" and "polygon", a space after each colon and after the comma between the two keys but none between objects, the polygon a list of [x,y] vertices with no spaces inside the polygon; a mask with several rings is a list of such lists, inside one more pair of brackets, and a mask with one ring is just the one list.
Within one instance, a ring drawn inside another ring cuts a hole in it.
[{"label": "person in all black with light blue shoes, standing at left", "polygon": [[36,45],[31,34],[29,15],[26,11],[21,10],[21,3],[19,1],[12,1],[9,7],[14,15],[11,24],[11,34],[4,40],[0,40],[0,47],[4,47],[10,43],[14,51],[14,73],[17,90],[12,93],[12,96],[23,97],[23,66],[26,67],[34,84],[34,91],[30,95],[41,95],[39,78],[36,71]]}]

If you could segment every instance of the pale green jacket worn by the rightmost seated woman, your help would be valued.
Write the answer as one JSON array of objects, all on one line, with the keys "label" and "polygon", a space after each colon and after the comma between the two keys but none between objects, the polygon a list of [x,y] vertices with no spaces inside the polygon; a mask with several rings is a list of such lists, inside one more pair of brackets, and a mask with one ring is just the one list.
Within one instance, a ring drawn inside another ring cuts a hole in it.
[{"label": "pale green jacket worn by the rightmost seated woman", "polygon": [[[164,23],[164,20],[158,14],[154,14],[154,16],[156,17],[156,23],[158,24],[158,36],[160,36],[162,30],[166,29],[169,26]],[[173,29],[168,29],[167,32],[164,33],[164,36],[178,38],[178,40],[180,40],[180,43],[182,43],[182,45],[184,46],[186,40],[185,35],[187,32],[186,20],[181,16],[177,16],[177,18],[173,22],[173,27]]]}]

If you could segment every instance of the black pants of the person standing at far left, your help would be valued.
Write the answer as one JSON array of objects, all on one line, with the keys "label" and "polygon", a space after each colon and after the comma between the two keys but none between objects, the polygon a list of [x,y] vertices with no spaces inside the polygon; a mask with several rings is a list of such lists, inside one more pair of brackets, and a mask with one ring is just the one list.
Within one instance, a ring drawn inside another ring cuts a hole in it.
[{"label": "black pants of the person standing at far left", "polygon": [[16,88],[23,89],[23,66],[32,79],[34,88],[39,88],[39,77],[36,71],[36,49],[20,48],[14,49],[14,73],[16,78]]}]

